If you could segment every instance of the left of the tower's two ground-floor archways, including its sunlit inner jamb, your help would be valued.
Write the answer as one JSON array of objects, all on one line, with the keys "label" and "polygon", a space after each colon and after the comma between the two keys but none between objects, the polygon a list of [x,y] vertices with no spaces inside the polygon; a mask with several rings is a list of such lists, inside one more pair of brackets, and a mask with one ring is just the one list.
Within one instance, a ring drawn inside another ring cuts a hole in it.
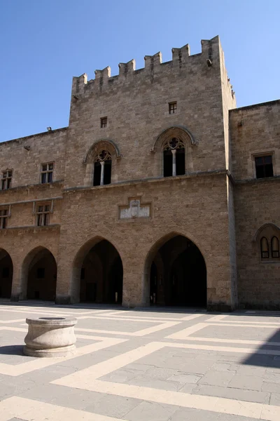
[{"label": "left of the tower's two ground-floor archways, including its sunlit inner jamb", "polygon": [[73,260],[71,303],[122,304],[123,262],[112,241],[94,236],[80,247]]}]

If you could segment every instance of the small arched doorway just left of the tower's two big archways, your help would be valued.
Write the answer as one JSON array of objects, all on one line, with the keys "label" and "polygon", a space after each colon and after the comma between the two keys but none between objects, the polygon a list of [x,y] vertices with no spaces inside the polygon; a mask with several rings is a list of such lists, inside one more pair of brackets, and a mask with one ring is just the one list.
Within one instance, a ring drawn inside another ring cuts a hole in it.
[{"label": "small arched doorway just left of the tower's two big archways", "polygon": [[31,250],[23,266],[27,277],[27,300],[55,301],[57,264],[50,250],[45,247]]}]

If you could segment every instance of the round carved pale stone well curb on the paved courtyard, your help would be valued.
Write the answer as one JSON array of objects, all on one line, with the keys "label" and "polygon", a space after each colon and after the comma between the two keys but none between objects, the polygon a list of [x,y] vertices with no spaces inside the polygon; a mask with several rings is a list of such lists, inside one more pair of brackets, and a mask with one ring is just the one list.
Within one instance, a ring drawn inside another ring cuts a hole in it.
[{"label": "round carved pale stone well curb on the paved courtyard", "polygon": [[38,317],[26,319],[28,333],[23,352],[28,356],[67,356],[76,351],[74,317]]}]

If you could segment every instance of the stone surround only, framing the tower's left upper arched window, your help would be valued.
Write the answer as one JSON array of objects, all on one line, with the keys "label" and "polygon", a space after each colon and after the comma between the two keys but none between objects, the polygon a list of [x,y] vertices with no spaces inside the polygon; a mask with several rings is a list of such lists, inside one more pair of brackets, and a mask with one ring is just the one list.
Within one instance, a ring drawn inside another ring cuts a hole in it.
[{"label": "stone surround only, framing the tower's left upper arched window", "polygon": [[94,177],[94,159],[102,150],[106,150],[111,155],[111,182],[116,182],[116,161],[121,157],[120,150],[118,145],[116,145],[113,140],[109,139],[99,139],[92,144],[90,149],[88,149],[83,163],[86,166],[85,170],[85,186],[93,185]]}]

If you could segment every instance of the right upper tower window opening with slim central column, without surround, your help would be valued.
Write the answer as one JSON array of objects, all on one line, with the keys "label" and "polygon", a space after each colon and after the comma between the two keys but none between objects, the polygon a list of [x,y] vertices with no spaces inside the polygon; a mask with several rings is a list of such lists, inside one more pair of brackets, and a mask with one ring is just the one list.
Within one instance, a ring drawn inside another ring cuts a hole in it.
[{"label": "right upper tower window opening with slim central column, without surround", "polygon": [[165,142],[162,150],[164,177],[186,174],[184,143],[178,138],[171,138]]}]

